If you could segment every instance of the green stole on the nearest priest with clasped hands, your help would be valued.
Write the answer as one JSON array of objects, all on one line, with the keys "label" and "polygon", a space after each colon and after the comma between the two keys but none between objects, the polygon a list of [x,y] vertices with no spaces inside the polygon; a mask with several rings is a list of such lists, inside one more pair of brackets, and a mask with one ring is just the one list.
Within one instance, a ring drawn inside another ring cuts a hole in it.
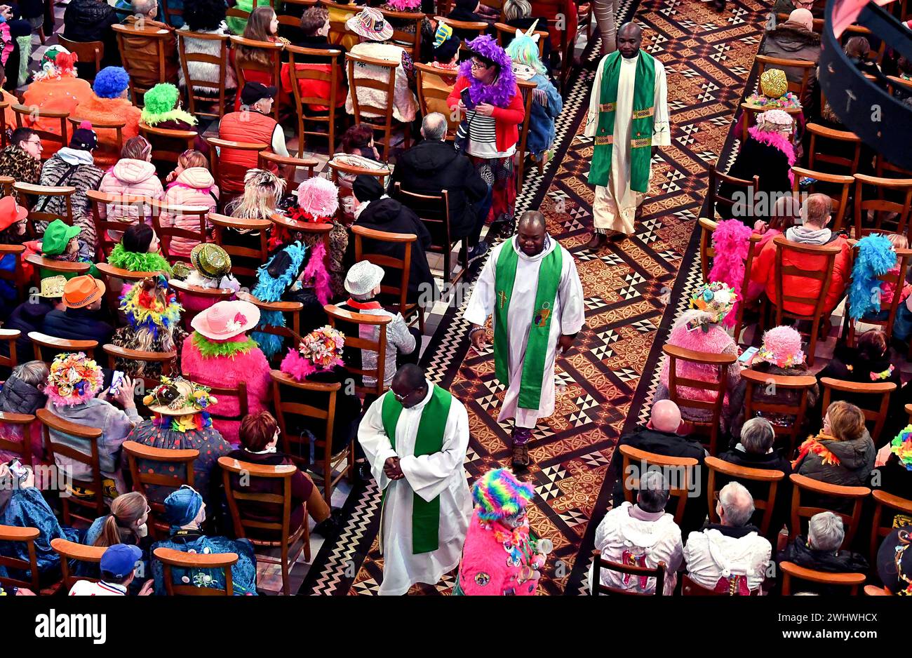
[{"label": "green stole on the nearest priest with clasped hands", "polygon": [[[433,386],[433,385],[430,385]],[[453,396],[444,391],[440,386],[433,387],[428,404],[421,409],[421,419],[418,423],[418,436],[415,437],[415,457],[432,455],[443,449],[443,433],[447,427],[447,417],[450,416],[450,405]],[[383,419],[383,429],[389,437],[389,445],[396,449],[396,424],[402,405],[391,392],[383,396],[383,408],[380,416]],[[381,504],[386,503],[387,490],[383,490]],[[430,553],[440,547],[440,496],[432,500],[422,499],[417,493],[411,503],[411,552]]]}]

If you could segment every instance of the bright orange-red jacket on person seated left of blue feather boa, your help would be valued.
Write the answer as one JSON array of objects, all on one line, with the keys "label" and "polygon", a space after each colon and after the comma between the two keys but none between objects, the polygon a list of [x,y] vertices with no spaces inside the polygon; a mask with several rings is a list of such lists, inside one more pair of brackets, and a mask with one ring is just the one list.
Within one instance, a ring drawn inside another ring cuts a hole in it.
[{"label": "bright orange-red jacket on person seated left of blue feather boa", "polygon": [[[849,276],[852,273],[851,247],[848,241],[842,235],[836,237],[833,241],[828,242],[830,246],[838,246],[840,252],[836,254],[833,263],[833,278],[830,280],[830,287],[826,291],[824,299],[824,311],[832,311],[839,300],[845,293],[845,286],[848,285]],[[812,256],[806,253],[787,252],[782,255],[783,265],[794,265],[808,272],[819,271],[825,262],[825,256]],[[760,256],[753,262],[751,267],[751,281],[762,283],[766,287],[766,296],[772,303],[776,303],[776,245],[772,240],[766,243]],[[801,276],[783,276],[783,290],[802,290],[802,294],[808,297],[816,297],[820,294],[821,282],[816,279],[806,279]],[[795,314],[812,314],[814,306],[805,303],[786,303],[784,310]]]}]

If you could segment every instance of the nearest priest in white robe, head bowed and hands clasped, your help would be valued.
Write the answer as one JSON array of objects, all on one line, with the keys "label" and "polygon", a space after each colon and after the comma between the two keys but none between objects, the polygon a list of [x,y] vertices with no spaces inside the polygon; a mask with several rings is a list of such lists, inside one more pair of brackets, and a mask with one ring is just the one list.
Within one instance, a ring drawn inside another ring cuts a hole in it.
[{"label": "nearest priest in white robe, head bowed and hands clasped", "polygon": [[472,518],[465,407],[418,365],[403,365],[361,419],[358,443],[382,492],[379,593],[436,584],[459,565]]}]

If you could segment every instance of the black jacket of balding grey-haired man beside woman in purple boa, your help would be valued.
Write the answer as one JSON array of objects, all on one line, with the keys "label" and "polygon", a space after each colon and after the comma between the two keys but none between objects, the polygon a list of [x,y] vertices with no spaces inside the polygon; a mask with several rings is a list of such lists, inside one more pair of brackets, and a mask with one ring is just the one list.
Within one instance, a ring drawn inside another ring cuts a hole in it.
[{"label": "black jacket of balding grey-haired man beside woman in purple boa", "polygon": [[487,183],[469,158],[444,141],[422,141],[399,156],[389,177],[390,195],[397,182],[402,190],[416,194],[440,194],[440,190],[447,190],[450,237],[454,242],[472,233],[477,219],[472,204],[488,193]]}]

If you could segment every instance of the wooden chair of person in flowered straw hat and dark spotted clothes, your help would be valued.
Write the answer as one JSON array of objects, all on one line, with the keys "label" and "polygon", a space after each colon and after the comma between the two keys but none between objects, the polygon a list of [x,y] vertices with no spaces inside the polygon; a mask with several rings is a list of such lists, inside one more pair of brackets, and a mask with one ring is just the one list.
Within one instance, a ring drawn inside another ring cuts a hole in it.
[{"label": "wooden chair of person in flowered straw hat and dark spotted clothes", "polygon": [[[164,499],[171,490],[181,485],[193,486],[193,463],[200,457],[199,450],[171,450],[143,446],[136,441],[124,441],[123,454],[127,456],[133,490],[139,491],[148,501],[149,529],[158,539],[168,537],[171,524],[165,520]],[[152,473],[140,464],[154,462],[168,468],[172,475]]]}]

